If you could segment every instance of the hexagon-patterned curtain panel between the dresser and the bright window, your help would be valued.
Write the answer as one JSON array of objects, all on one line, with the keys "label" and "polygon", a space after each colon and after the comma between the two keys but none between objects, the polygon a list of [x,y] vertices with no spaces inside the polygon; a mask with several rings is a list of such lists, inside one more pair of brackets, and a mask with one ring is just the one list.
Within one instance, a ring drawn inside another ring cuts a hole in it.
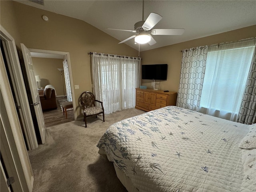
[{"label": "hexagon-patterned curtain panel between the dresser and the bright window", "polygon": [[177,106],[199,111],[208,47],[183,50]]}]

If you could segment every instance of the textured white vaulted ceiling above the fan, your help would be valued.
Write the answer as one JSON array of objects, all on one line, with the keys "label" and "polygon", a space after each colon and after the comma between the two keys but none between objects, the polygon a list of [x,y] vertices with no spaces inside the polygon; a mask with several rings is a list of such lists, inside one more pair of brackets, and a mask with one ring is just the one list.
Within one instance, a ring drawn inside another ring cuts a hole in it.
[{"label": "textured white vaulted ceiling above the fan", "polygon": [[[142,20],[142,0],[45,0],[44,6],[28,0],[17,2],[83,20],[120,41],[134,33],[104,28],[133,30]],[[185,32],[181,36],[155,35],[156,44],[143,44],[140,51],[256,24],[255,0],[145,0],[144,20],[150,12],[163,17],[154,28],[184,28]],[[138,50],[134,39],[125,43]]]}]

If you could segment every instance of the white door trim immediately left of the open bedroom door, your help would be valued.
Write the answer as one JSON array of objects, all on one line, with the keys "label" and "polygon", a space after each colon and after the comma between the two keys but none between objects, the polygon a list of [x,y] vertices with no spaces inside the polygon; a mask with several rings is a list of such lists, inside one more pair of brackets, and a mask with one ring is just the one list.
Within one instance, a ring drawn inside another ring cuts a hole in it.
[{"label": "white door trim immediately left of the open bedroom door", "polygon": [[0,25],[0,36],[1,39],[6,42],[8,49],[8,56],[12,65],[12,70],[15,78],[16,88],[18,91],[18,98],[20,100],[20,112],[24,120],[24,131],[26,132],[27,146],[28,150],[36,149],[38,147],[38,142],[36,139],[36,133],[34,129],[34,124],[32,120],[32,115],[30,112],[30,106],[28,102],[28,97],[26,94],[26,88],[21,72],[20,61],[18,59],[18,53],[16,50],[16,45],[14,38]]}]

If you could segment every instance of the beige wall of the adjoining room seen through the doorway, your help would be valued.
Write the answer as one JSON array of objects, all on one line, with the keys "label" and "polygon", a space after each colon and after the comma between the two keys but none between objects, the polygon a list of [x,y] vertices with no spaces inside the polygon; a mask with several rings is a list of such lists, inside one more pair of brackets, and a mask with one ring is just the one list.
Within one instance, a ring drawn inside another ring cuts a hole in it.
[{"label": "beige wall of the adjoining room seen through the doorway", "polygon": [[[32,57],[32,62],[34,65],[35,74],[40,75],[41,78],[41,82],[38,84],[39,88],[44,88],[46,85],[50,84],[54,86],[57,96],[63,96],[61,75],[60,71],[58,70],[58,68],[63,69],[63,59]],[[64,72],[62,73],[64,93],[66,95]]]}]

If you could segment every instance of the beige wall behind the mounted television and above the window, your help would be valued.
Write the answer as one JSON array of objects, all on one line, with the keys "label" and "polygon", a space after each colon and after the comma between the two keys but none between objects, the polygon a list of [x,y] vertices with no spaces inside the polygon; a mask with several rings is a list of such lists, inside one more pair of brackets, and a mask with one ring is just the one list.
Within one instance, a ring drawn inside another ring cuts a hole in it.
[{"label": "beige wall behind the mounted television and above the window", "polygon": [[[241,40],[244,38],[256,37],[256,25],[216,34],[204,38],[190,40],[162,48],[148,50],[140,53],[142,64],[168,64],[168,75],[166,81],[160,81],[162,90],[178,91],[180,80],[180,68],[182,52],[180,50]],[[175,36],[173,37],[175,38]],[[152,88],[152,80],[142,80],[142,85]],[[159,82],[159,81],[157,81]]]}]

